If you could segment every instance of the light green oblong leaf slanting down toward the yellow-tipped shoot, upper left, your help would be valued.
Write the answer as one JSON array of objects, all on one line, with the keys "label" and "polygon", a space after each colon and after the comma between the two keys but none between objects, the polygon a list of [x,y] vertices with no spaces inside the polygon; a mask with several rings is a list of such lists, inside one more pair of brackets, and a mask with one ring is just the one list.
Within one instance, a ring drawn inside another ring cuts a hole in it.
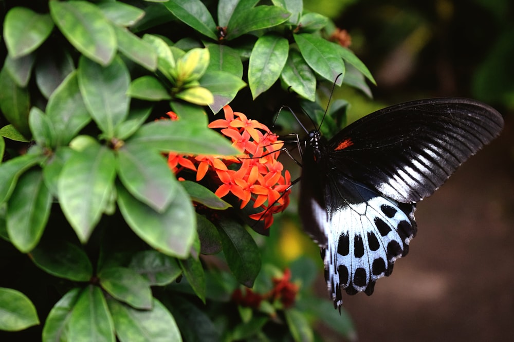
[{"label": "light green oblong leaf slanting down toward the yellow-tipped shoot, upper left", "polygon": [[[104,4],[121,4],[104,3]],[[116,39],[118,41],[118,49],[131,61],[139,64],[140,66],[155,71],[157,69],[157,53],[154,48],[148,43],[143,41],[137,35],[128,31],[125,28],[114,26]]]}]

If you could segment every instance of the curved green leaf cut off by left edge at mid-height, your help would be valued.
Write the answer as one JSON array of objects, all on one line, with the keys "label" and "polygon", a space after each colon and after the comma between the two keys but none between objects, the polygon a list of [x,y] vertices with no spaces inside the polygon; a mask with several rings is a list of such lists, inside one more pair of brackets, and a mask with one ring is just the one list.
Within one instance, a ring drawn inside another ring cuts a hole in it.
[{"label": "curved green leaf cut off by left edge at mid-height", "polygon": [[16,186],[18,177],[27,169],[39,163],[42,157],[24,154],[0,164],[0,203],[6,202]]}]

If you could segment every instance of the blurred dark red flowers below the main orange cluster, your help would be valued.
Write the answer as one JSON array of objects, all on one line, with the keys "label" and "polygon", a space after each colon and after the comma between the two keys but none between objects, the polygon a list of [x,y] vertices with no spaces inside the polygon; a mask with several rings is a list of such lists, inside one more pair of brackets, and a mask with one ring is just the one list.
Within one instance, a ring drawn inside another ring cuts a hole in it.
[{"label": "blurred dark red flowers below the main orange cluster", "polygon": [[289,308],[295,304],[295,298],[298,293],[299,287],[291,283],[291,271],[284,270],[284,275],[281,278],[273,278],[273,288],[265,293],[259,294],[251,289],[245,288],[245,293],[238,288],[232,293],[232,300],[238,305],[259,308],[263,300],[280,300],[284,308]]}]

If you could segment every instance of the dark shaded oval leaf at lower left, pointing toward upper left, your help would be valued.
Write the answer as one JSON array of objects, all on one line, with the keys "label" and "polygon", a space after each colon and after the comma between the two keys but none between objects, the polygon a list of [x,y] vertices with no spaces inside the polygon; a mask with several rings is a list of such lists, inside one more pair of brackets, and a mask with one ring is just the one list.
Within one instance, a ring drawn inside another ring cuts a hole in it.
[{"label": "dark shaded oval leaf at lower left, pointing toward upper left", "polygon": [[67,241],[42,242],[30,253],[34,264],[56,277],[89,281],[93,265],[84,250]]}]

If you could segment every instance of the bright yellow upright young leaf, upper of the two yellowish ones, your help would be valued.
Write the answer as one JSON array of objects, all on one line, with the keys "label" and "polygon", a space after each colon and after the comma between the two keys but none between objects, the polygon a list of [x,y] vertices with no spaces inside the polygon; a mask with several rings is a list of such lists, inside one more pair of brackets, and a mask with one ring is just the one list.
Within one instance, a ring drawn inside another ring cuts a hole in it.
[{"label": "bright yellow upright young leaf, upper of the two yellowish ones", "polygon": [[189,50],[177,62],[177,82],[185,84],[196,81],[209,66],[209,50],[195,48]]}]

